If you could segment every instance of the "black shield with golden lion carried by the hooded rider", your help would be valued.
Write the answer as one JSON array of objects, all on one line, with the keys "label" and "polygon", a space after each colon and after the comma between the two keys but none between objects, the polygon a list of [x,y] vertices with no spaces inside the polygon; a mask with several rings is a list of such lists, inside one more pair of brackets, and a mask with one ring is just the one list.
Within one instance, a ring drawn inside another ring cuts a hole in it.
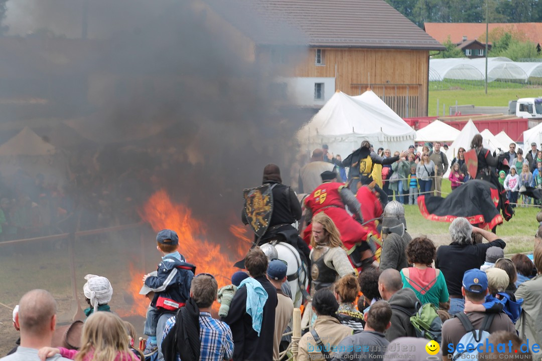
[{"label": "black shield with golden lion carried by the hooded rider", "polygon": [[257,237],[262,237],[273,215],[273,192],[269,184],[243,189],[244,215]]}]

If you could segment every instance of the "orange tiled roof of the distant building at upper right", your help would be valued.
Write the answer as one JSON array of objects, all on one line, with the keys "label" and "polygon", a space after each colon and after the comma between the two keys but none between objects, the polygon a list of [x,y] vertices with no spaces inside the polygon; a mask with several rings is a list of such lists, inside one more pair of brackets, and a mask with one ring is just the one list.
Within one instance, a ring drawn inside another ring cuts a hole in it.
[{"label": "orange tiled roof of the distant building at upper right", "polygon": [[[542,23],[491,23],[489,34],[496,28],[519,32],[527,40],[542,44]],[[452,43],[457,44],[463,41],[463,36],[467,36],[467,40],[476,40],[486,34],[485,23],[425,23],[424,29],[441,43],[445,42],[448,36]],[[485,43],[485,39],[480,41]]]}]

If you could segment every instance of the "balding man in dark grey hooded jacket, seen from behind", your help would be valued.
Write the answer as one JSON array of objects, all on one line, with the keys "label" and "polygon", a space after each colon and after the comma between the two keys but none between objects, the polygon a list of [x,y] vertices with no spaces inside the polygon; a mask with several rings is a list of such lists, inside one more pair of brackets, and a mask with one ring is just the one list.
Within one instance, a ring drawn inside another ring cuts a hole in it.
[{"label": "balding man in dark grey hooded jacket, seen from behind", "polygon": [[416,337],[410,316],[417,311],[416,303],[420,300],[410,288],[403,288],[401,273],[394,268],[380,273],[378,291],[391,306],[391,327],[386,331],[386,339],[391,342],[399,337]]}]

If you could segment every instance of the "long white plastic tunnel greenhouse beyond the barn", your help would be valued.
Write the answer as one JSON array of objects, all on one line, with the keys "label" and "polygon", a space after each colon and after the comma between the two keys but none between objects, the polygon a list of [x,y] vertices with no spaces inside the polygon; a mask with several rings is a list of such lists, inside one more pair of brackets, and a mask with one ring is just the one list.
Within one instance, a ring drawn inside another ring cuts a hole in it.
[{"label": "long white plastic tunnel greenhouse beyond the barn", "polygon": [[[429,60],[429,81],[485,80],[485,58],[447,58]],[[514,62],[506,57],[488,58],[487,80],[526,83],[542,77],[542,63]]]}]

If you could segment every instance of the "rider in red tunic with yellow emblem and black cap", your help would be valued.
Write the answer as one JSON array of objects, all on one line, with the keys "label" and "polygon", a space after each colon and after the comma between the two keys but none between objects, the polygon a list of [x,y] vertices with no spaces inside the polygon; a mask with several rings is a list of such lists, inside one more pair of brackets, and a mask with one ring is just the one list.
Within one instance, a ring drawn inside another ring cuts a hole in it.
[{"label": "rider in red tunic with yellow emblem and black cap", "polygon": [[[374,253],[378,245],[371,238],[369,228],[360,224],[363,216],[359,201],[350,189],[337,182],[337,173],[326,171],[321,174],[322,183],[305,199],[307,219],[313,214],[325,213],[330,216],[340,232],[341,241],[349,253],[352,265],[361,268],[375,261]],[[358,221],[346,211],[346,206]],[[313,225],[305,229],[304,240],[309,241]]]}]

